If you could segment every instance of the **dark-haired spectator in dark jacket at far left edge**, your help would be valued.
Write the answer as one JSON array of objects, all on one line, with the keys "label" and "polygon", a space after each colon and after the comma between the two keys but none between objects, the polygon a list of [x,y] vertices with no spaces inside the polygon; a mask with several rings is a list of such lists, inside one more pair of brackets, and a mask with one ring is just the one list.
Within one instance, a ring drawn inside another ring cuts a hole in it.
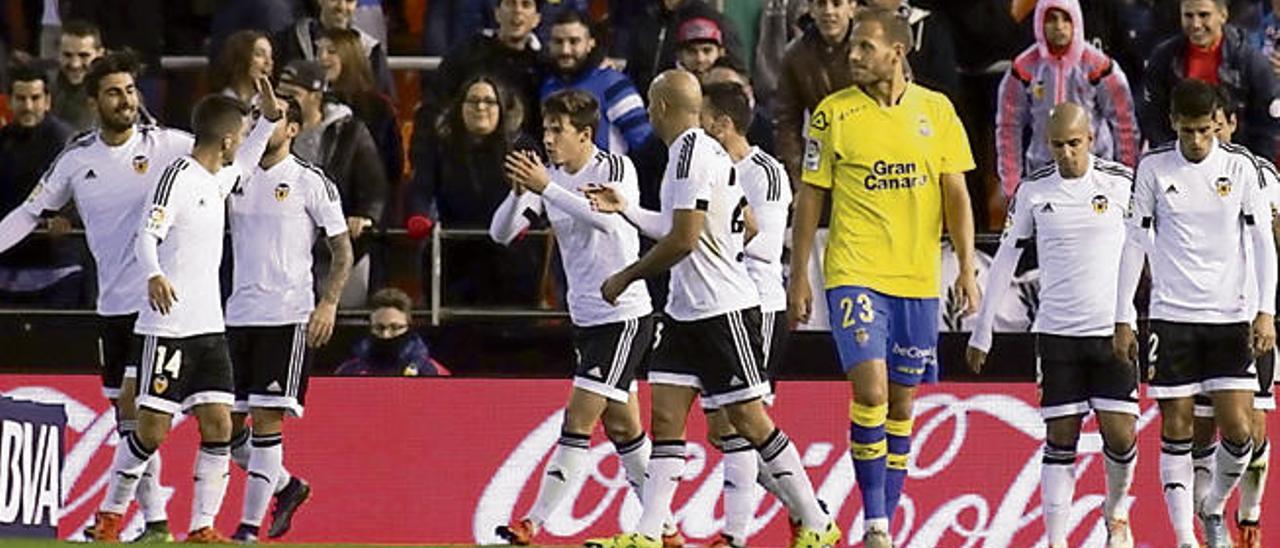
[{"label": "dark-haired spectator in dark jacket at far left edge", "polygon": [[[72,136],[70,127],[49,114],[49,76],[38,69],[9,73],[9,106],[13,123],[0,128],[3,213],[22,205]],[[61,216],[44,224],[55,233],[70,227]],[[70,242],[37,238],[0,255],[0,302],[73,309],[81,305],[82,288],[83,269]]]}]

